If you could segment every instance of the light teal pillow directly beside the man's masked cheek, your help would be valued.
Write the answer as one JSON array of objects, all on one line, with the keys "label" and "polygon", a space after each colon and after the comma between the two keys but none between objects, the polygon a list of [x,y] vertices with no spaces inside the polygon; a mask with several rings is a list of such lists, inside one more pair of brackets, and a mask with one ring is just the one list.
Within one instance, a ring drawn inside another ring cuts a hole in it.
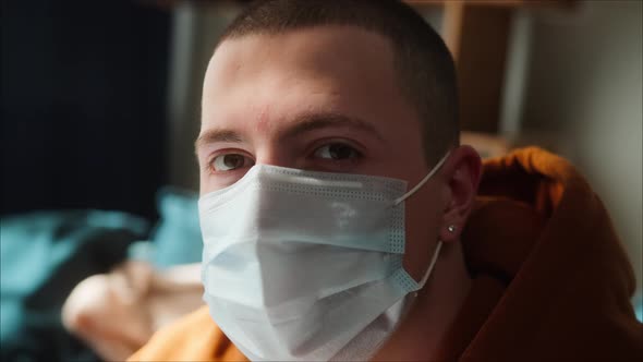
[{"label": "light teal pillow directly beside the man's masked cheek", "polygon": [[173,186],[159,190],[157,207],[160,219],[151,233],[155,266],[165,268],[201,262],[203,242],[197,203],[195,192]]}]

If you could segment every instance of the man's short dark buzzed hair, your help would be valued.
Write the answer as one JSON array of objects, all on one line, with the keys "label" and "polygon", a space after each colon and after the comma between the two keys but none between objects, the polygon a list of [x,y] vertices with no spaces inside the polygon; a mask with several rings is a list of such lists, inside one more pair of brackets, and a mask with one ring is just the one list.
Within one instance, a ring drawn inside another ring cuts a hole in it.
[{"label": "man's short dark buzzed hair", "polygon": [[389,40],[400,90],[421,122],[427,165],[434,165],[449,148],[458,145],[453,59],[430,25],[400,1],[259,0],[236,16],[219,44],[245,35],[281,34],[327,25],[356,26]]}]

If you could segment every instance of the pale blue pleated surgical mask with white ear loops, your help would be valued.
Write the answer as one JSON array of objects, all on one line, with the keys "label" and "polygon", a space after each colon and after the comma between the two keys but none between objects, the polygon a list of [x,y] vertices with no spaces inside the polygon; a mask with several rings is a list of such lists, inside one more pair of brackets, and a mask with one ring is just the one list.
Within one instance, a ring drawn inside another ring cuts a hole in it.
[{"label": "pale blue pleated surgical mask with white ear loops", "polygon": [[[397,179],[256,165],[199,200],[210,315],[253,361],[368,359],[420,290]],[[380,323],[381,322],[381,323]]]}]

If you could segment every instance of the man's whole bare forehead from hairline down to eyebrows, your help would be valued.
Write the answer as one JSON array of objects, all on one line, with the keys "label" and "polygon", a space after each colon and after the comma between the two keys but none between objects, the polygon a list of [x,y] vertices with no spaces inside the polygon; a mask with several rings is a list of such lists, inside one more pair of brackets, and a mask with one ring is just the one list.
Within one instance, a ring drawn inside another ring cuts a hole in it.
[{"label": "man's whole bare forehead from hairline down to eyebrows", "polygon": [[240,120],[279,124],[301,112],[342,113],[386,128],[414,114],[400,95],[388,39],[353,26],[223,40],[208,64],[202,106],[203,129]]}]

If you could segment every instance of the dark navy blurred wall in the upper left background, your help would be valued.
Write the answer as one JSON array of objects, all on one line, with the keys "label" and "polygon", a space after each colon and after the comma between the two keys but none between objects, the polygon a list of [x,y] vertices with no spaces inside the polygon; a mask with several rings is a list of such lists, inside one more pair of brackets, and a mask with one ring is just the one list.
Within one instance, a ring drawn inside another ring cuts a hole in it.
[{"label": "dark navy blurred wall in the upper left background", "polygon": [[143,1],[2,2],[3,215],[154,217],[167,179],[170,20]]}]

